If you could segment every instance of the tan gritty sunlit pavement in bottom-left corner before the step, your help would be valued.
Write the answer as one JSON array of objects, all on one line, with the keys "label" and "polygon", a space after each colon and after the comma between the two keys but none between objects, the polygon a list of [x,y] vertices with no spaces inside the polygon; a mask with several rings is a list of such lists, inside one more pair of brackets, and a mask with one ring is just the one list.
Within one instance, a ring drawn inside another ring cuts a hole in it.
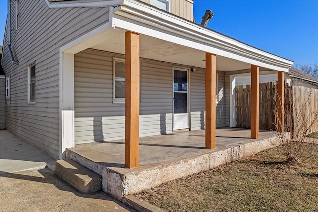
[{"label": "tan gritty sunlit pavement in bottom-left corner before the step", "polygon": [[104,192],[79,193],[45,168],[1,173],[1,212],[126,212],[134,211]]}]

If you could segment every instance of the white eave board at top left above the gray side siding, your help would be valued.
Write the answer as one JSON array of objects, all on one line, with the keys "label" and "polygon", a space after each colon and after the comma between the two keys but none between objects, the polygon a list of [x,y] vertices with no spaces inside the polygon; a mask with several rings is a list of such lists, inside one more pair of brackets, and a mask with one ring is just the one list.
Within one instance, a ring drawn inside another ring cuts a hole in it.
[{"label": "white eave board at top left above the gray side siding", "polygon": [[49,0],[44,0],[46,5],[52,8],[101,8],[109,6],[118,6],[123,3],[123,0],[73,0],[73,1],[58,1],[50,2]]}]

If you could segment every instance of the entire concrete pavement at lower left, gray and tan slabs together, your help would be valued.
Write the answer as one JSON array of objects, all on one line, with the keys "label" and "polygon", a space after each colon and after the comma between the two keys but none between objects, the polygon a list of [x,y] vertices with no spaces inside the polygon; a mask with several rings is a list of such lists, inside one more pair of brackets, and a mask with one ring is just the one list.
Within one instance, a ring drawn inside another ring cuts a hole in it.
[{"label": "entire concrete pavement at lower left, gray and tan slabs together", "polygon": [[54,169],[55,160],[42,150],[1,130],[0,212],[135,212],[102,191],[81,194]]}]

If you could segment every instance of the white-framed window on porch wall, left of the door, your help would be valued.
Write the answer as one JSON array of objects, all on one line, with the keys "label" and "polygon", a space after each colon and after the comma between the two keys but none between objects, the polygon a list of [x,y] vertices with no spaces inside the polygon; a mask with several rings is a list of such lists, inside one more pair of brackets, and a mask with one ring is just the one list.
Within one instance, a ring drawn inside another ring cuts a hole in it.
[{"label": "white-framed window on porch wall, left of the door", "polygon": [[125,59],[113,58],[113,100],[125,101]]}]

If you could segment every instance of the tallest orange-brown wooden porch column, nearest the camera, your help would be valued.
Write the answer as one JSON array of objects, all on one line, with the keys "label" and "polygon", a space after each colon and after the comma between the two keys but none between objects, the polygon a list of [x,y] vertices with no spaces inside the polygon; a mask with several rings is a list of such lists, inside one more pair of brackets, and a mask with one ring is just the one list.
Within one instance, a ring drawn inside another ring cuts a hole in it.
[{"label": "tallest orange-brown wooden porch column, nearest the camera", "polygon": [[125,166],[134,168],[139,165],[139,34],[126,32],[125,51]]}]

